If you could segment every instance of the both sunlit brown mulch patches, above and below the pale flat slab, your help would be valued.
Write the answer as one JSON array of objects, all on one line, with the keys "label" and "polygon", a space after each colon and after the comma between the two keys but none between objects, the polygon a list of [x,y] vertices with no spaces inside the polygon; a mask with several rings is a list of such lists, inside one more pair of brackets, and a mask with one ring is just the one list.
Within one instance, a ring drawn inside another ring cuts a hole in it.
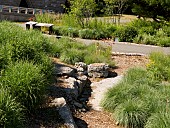
[{"label": "both sunlit brown mulch patches, above and below the pale flat slab", "polygon": [[[116,68],[112,69],[118,75],[124,74],[129,68],[132,67],[146,67],[149,62],[147,56],[126,56],[118,55],[113,56],[113,60],[116,63]],[[77,116],[79,118],[79,128],[122,128],[116,125],[113,117],[110,113],[104,111],[90,110],[86,113],[81,113]],[[80,121],[81,120],[81,121]],[[81,123],[84,121],[86,127],[82,127]]]}]

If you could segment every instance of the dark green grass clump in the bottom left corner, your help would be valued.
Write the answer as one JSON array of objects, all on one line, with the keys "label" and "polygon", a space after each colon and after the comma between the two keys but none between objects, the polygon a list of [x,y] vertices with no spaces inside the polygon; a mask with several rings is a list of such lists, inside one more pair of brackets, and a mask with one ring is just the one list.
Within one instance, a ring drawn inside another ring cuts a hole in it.
[{"label": "dark green grass clump in the bottom left corner", "polygon": [[23,128],[24,109],[10,92],[0,88],[0,127],[1,128]]}]

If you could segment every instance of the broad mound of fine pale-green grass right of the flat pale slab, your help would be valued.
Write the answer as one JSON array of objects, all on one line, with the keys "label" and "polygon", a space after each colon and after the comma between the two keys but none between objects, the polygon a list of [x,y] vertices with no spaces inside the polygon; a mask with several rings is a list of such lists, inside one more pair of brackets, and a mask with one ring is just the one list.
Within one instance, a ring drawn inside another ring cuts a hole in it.
[{"label": "broad mound of fine pale-green grass right of the flat pale slab", "polygon": [[120,125],[144,128],[154,113],[166,112],[170,105],[169,86],[153,80],[145,69],[130,69],[118,85],[108,90],[101,105]]}]

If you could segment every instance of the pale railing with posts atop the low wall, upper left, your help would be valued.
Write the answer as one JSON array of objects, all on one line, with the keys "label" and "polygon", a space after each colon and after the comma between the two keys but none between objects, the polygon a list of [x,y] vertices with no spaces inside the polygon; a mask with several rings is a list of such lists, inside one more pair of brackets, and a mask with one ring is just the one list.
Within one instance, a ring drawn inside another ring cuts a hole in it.
[{"label": "pale railing with posts atop the low wall, upper left", "polygon": [[33,15],[42,14],[42,13],[53,13],[52,10],[15,7],[15,6],[7,6],[7,5],[0,5],[0,12],[33,14]]}]

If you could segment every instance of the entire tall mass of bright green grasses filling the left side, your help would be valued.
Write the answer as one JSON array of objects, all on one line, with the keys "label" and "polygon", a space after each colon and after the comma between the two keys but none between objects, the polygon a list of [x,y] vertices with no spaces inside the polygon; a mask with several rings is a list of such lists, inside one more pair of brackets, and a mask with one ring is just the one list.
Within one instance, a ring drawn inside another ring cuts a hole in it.
[{"label": "entire tall mass of bright green grasses filling the left side", "polygon": [[1,22],[0,30],[0,127],[20,128],[23,115],[43,101],[56,48],[54,39],[10,22]]}]

